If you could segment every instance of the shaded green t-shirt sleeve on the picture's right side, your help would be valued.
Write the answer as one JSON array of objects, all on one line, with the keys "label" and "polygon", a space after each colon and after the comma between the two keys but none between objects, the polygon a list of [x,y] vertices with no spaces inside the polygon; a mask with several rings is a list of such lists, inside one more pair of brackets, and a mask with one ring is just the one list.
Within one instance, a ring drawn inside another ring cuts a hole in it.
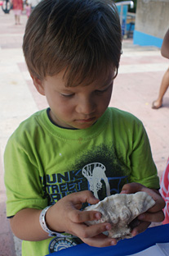
[{"label": "shaded green t-shirt sleeve on the picture's right side", "polygon": [[131,153],[131,182],[159,189],[158,171],[153,162],[149,138],[141,121],[136,121]]}]

